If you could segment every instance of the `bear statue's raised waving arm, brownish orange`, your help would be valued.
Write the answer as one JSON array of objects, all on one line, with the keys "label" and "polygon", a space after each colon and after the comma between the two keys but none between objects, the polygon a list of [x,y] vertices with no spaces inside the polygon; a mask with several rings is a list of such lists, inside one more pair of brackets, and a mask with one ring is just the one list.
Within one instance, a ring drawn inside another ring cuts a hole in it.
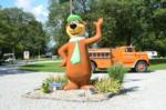
[{"label": "bear statue's raised waving arm, brownish orange", "polygon": [[98,21],[95,22],[96,34],[92,38],[85,39],[86,44],[93,44],[102,39],[102,26],[103,26],[103,18],[100,18]]}]

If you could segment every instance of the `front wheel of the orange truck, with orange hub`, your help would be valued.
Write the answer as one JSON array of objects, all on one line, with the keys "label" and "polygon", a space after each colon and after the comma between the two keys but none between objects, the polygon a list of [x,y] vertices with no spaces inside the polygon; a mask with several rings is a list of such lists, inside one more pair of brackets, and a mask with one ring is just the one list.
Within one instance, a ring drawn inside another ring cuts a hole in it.
[{"label": "front wheel of the orange truck, with orange hub", "polygon": [[138,61],[135,66],[136,72],[145,72],[147,70],[147,63],[145,61]]}]

